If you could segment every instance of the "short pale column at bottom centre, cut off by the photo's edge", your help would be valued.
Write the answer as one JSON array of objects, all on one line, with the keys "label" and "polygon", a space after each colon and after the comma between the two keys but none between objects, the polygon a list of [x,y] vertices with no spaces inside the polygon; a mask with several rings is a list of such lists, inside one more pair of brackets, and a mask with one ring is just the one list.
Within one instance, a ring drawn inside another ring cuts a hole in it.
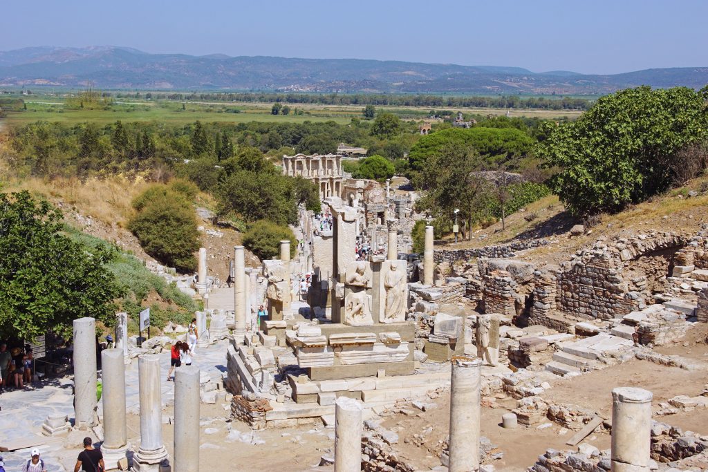
[{"label": "short pale column at bottom centre, cut off by the photo's edge", "polygon": [[334,472],[361,470],[362,405],[354,398],[337,398],[334,407]]}]

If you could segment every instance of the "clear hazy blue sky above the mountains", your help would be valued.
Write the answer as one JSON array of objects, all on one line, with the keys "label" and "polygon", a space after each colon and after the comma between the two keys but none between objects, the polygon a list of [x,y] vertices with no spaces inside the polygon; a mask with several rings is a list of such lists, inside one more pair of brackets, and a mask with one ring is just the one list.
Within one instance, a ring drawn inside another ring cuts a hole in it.
[{"label": "clear hazy blue sky above the mountains", "polygon": [[26,0],[0,11],[0,50],[120,45],[600,74],[708,66],[707,0]]}]

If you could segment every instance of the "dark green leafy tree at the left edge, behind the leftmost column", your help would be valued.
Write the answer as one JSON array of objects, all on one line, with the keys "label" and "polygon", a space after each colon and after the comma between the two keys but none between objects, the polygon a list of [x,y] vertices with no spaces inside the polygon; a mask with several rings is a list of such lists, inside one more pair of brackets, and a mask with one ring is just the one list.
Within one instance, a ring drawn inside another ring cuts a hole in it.
[{"label": "dark green leafy tree at the left edge, behind the leftmost column", "polygon": [[0,193],[0,337],[67,335],[72,320],[108,322],[120,296],[105,264],[114,254],[71,241],[62,213],[28,192]]}]

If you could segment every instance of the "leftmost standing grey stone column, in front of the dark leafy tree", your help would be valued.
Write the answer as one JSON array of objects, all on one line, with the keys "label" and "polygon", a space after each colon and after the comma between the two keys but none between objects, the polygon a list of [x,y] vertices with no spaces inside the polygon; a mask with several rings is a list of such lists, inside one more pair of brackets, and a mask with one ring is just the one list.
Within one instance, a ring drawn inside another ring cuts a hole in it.
[{"label": "leftmost standing grey stone column, in front of the dark leafy tree", "polygon": [[96,320],[74,320],[74,427],[96,426]]}]

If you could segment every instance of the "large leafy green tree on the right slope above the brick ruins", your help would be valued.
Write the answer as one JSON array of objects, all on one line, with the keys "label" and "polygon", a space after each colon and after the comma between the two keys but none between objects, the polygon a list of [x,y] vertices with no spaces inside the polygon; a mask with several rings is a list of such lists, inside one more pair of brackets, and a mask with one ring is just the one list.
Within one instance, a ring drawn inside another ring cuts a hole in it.
[{"label": "large leafy green tree on the right slope above the brick ruins", "polygon": [[669,188],[680,151],[708,139],[708,87],[639,87],[600,98],[554,127],[537,156],[562,171],[552,189],[576,215],[617,212]]}]

